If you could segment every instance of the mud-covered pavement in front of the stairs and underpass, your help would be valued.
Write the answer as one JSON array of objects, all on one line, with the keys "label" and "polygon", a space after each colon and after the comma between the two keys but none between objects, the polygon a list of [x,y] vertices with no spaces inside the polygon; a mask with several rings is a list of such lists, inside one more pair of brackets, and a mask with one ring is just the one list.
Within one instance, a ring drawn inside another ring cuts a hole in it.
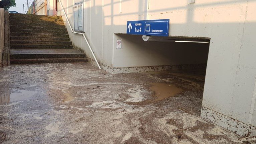
[{"label": "mud-covered pavement in front of the stairs and underpass", "polygon": [[0,143],[242,143],[200,118],[203,85],[198,71],[112,75],[89,63],[3,67],[0,94],[2,103],[10,102],[0,105]]}]

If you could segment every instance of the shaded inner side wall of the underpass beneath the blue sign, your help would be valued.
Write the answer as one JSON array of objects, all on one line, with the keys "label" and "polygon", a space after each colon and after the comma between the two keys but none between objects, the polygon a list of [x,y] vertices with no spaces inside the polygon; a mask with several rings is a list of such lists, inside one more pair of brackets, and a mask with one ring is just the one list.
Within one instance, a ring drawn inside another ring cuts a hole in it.
[{"label": "shaded inner side wall of the underpass beneath the blue sign", "polygon": [[142,36],[116,34],[122,49],[114,49],[113,67],[207,64],[209,43],[145,42]]}]

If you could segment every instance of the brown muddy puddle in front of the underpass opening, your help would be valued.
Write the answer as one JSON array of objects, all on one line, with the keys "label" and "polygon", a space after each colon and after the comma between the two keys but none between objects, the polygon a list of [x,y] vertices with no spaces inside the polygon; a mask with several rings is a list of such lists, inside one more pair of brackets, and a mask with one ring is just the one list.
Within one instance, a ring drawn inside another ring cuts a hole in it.
[{"label": "brown muddy puddle in front of the underpass opening", "polygon": [[168,83],[151,83],[150,89],[155,92],[154,101],[160,101],[169,97],[173,97],[176,94],[183,91],[183,89],[176,87],[174,84]]}]

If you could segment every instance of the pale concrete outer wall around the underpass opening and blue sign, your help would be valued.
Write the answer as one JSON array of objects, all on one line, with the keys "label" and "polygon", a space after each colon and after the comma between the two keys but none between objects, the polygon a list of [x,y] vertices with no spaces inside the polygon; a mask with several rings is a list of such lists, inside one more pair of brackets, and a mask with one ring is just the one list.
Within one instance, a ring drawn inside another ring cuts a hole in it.
[{"label": "pale concrete outer wall around the underpass opening and blue sign", "polygon": [[[61,1],[72,23],[72,6],[79,0]],[[211,38],[202,106],[256,126],[256,1],[188,1],[84,0],[85,35],[99,62],[109,67],[133,66],[120,63],[113,51],[114,33],[126,33],[127,21],[170,19],[170,36]],[[70,37],[91,58],[81,36]]]}]

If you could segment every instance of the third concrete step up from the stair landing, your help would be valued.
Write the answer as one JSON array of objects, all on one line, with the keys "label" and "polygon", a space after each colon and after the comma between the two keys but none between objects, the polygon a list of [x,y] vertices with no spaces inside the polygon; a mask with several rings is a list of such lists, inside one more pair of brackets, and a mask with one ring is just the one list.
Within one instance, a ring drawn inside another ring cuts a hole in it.
[{"label": "third concrete step up from the stair landing", "polygon": [[59,42],[62,42],[62,41],[70,41],[70,38],[54,38],[54,37],[51,37],[51,38],[47,38],[47,37],[13,37],[11,36],[10,37],[11,41],[15,40],[15,41],[59,41]]}]

